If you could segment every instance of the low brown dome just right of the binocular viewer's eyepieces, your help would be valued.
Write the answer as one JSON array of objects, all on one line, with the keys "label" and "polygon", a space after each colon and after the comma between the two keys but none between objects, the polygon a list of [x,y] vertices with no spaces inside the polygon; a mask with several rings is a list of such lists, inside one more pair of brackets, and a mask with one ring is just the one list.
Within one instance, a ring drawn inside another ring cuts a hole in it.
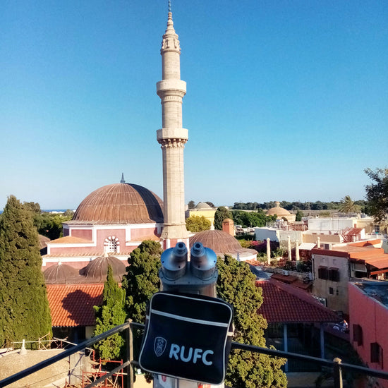
[{"label": "low brown dome just right of the binocular viewer's eyepieces", "polygon": [[231,255],[240,260],[255,259],[257,252],[254,249],[243,248],[240,243],[225,231],[207,230],[190,237],[190,248],[195,243],[202,243],[206,248],[214,250],[217,256]]}]

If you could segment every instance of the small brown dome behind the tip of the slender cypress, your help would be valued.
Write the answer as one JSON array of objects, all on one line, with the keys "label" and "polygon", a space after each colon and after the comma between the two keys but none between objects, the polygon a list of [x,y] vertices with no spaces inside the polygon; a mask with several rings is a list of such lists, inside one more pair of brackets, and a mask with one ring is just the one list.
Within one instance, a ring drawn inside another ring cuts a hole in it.
[{"label": "small brown dome behind the tip of the slender cypress", "polygon": [[104,283],[107,280],[108,265],[113,269],[113,277],[121,281],[126,273],[126,265],[114,256],[100,256],[92,260],[84,269],[83,275],[89,283]]}]

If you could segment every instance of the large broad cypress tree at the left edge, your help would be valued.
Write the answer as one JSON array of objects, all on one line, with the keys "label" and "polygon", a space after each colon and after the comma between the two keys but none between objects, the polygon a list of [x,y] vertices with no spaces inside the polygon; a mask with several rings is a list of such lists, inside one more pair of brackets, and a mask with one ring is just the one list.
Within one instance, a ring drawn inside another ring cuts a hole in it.
[{"label": "large broad cypress tree at the left edge", "polygon": [[32,212],[10,195],[0,218],[0,346],[51,334]]}]

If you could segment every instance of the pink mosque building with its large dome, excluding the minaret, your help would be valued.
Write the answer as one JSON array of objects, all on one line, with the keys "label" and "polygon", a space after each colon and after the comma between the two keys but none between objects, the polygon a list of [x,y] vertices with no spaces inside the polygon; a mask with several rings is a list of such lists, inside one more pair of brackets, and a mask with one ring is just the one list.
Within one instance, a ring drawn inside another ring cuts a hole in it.
[{"label": "pink mosque building with its large dome, excluding the minaret", "polygon": [[162,200],[152,191],[123,179],[98,188],[63,224],[63,237],[47,243],[43,269],[58,262],[80,269],[104,253],[126,262],[142,241],[159,241],[162,209]]}]

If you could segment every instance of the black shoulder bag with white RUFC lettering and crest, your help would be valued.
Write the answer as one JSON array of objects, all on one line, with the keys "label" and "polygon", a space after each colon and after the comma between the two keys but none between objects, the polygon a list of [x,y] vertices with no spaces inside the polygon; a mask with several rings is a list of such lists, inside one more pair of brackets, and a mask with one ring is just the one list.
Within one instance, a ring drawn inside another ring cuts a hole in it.
[{"label": "black shoulder bag with white RUFC lettering and crest", "polygon": [[155,293],[150,301],[139,363],[143,370],[222,384],[233,310],[217,298]]}]

